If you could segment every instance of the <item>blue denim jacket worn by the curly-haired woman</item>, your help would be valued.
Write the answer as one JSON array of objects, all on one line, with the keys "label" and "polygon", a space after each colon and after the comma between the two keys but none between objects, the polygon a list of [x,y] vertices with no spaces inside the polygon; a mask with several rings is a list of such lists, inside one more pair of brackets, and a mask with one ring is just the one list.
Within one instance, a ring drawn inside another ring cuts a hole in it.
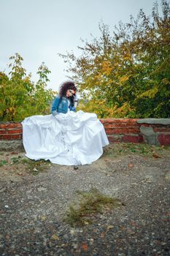
[{"label": "blue denim jacket worn by the curly-haired woman", "polygon": [[74,106],[69,106],[69,100],[66,97],[58,96],[54,99],[53,104],[51,106],[51,113],[55,116],[57,113],[67,113],[69,110],[75,111]]}]

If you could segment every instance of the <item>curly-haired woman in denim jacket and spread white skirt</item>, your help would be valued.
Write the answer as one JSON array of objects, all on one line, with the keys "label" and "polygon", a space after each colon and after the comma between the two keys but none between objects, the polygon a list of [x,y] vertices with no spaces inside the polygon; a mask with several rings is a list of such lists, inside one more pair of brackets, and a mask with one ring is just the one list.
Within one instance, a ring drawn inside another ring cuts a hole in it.
[{"label": "curly-haired woman in denim jacket and spread white skirt", "polygon": [[59,165],[87,165],[109,144],[104,127],[94,113],[75,112],[77,89],[72,81],[61,86],[47,116],[25,118],[23,146],[26,157]]}]

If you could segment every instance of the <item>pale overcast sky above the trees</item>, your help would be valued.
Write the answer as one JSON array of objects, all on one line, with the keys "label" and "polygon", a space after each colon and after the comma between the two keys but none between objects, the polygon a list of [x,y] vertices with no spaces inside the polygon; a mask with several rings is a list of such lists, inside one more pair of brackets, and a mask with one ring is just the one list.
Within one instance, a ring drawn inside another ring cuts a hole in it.
[{"label": "pale overcast sky above the trees", "polygon": [[[158,0],[160,3],[161,0]],[[8,74],[9,56],[19,53],[23,67],[36,72],[44,61],[51,73],[47,88],[58,90],[66,78],[66,63],[58,53],[73,51],[81,39],[88,42],[100,37],[101,20],[110,31],[121,20],[128,23],[130,15],[136,18],[140,9],[147,15],[152,12],[154,0],[0,0],[0,71]]]}]

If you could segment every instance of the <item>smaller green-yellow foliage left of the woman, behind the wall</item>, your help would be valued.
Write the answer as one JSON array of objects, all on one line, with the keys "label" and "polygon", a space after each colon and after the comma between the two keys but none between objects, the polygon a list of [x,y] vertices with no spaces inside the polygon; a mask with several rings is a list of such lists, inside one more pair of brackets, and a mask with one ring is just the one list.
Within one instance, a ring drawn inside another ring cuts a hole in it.
[{"label": "smaller green-yellow foliage left of the woman, behind the wall", "polygon": [[42,63],[37,72],[39,80],[34,85],[31,75],[26,75],[26,69],[22,67],[20,54],[9,59],[12,61],[9,76],[0,72],[0,120],[21,121],[26,116],[50,113],[54,92],[46,89],[49,69]]}]

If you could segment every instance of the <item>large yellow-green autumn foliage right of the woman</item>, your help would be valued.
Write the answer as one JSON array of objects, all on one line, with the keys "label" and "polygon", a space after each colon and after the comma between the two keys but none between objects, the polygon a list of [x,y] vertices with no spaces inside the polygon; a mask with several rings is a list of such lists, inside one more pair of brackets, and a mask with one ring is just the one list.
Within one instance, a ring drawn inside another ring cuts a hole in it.
[{"label": "large yellow-green autumn foliage right of the woman", "polygon": [[139,11],[136,20],[109,27],[99,24],[101,37],[82,40],[82,54],[59,54],[79,86],[83,109],[98,117],[169,117],[170,6],[152,7],[152,17]]}]

